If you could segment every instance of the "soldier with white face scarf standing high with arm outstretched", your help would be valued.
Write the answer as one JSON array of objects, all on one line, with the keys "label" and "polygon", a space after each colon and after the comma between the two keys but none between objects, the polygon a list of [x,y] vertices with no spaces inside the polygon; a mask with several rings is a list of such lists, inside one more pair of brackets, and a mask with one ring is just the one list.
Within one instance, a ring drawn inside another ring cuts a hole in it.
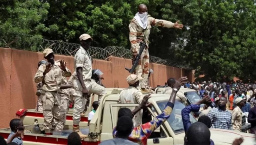
[{"label": "soldier with white face scarf standing high with arm outstretched", "polygon": [[146,82],[148,78],[149,71],[149,53],[148,53],[148,38],[150,34],[150,29],[152,26],[161,26],[166,28],[176,28],[182,29],[183,25],[179,24],[179,21],[176,23],[172,23],[166,20],[158,20],[151,17],[147,13],[147,6],[145,4],[140,4],[138,7],[138,13],[134,16],[129,24],[130,34],[129,39],[131,43],[131,51],[132,56],[135,58],[139,53],[139,43],[144,41],[147,45],[145,50],[140,56],[139,65],[136,67],[135,72],[136,75],[142,76],[142,80],[140,81],[140,88],[142,91],[147,92]]}]

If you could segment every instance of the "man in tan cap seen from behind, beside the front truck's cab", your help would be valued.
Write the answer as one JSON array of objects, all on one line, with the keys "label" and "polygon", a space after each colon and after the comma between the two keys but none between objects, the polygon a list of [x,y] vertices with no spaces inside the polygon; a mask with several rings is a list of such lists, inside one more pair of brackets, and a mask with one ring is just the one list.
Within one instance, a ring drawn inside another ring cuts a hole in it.
[{"label": "man in tan cap seen from behind, beside the front truck's cab", "polygon": [[[131,74],[129,75],[126,80],[129,84],[127,89],[121,91],[119,100],[121,104],[140,104],[143,99],[143,94],[137,87],[139,86],[139,81],[142,78],[140,76]],[[130,110],[134,110],[135,107],[127,107]],[[134,126],[138,126],[142,124],[142,114],[143,110],[140,110],[136,113],[132,119]]]}]

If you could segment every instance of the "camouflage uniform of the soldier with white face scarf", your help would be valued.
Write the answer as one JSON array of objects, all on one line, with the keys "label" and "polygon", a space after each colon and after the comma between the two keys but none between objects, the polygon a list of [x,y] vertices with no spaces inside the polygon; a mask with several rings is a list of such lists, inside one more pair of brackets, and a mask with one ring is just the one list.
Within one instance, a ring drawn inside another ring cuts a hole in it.
[{"label": "camouflage uniform of the soldier with white face scarf", "polygon": [[[140,56],[139,65],[136,67],[135,72],[136,75],[142,76],[143,79],[140,81],[140,87],[146,88],[147,85],[147,79],[148,79],[148,73],[149,73],[149,53],[148,53],[148,43],[149,43],[149,34],[150,29],[152,26],[161,26],[166,28],[172,28],[174,26],[174,23],[166,20],[158,20],[150,15],[148,17],[148,25],[147,28],[144,30],[141,28],[137,22],[137,20],[132,19],[129,24],[130,29],[130,43],[131,43],[131,51],[139,53],[140,49],[140,42],[145,41],[147,47],[144,49],[143,53]],[[142,60],[142,61],[141,61]]]}]

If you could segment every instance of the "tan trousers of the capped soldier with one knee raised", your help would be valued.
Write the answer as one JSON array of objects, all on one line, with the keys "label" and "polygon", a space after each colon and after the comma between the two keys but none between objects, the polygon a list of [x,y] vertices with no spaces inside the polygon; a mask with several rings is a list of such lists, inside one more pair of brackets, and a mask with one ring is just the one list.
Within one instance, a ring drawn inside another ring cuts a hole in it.
[{"label": "tan trousers of the capped soldier with one knee raised", "polygon": [[[99,96],[99,101],[103,95],[106,94],[106,89],[98,85],[95,81],[85,80],[84,85],[89,93],[94,93]],[[73,110],[73,125],[79,125],[81,113],[85,109],[87,99],[83,97],[82,86],[78,79],[73,80],[73,88],[76,90],[77,96],[74,96],[74,110]]]}]

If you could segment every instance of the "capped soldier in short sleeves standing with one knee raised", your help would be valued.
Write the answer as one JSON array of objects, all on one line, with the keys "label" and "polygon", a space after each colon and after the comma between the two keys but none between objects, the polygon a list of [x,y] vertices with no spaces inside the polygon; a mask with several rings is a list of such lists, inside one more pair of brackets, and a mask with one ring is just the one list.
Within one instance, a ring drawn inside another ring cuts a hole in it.
[{"label": "capped soldier in short sleeves standing with one knee raised", "polygon": [[74,110],[73,110],[73,131],[77,132],[81,138],[87,137],[82,134],[79,128],[81,113],[85,109],[88,93],[94,93],[99,96],[99,101],[106,94],[106,89],[97,83],[93,84],[92,77],[92,59],[88,52],[92,38],[88,34],[82,34],[79,37],[81,46],[74,57],[74,73],[72,74],[73,87],[76,90]]}]

